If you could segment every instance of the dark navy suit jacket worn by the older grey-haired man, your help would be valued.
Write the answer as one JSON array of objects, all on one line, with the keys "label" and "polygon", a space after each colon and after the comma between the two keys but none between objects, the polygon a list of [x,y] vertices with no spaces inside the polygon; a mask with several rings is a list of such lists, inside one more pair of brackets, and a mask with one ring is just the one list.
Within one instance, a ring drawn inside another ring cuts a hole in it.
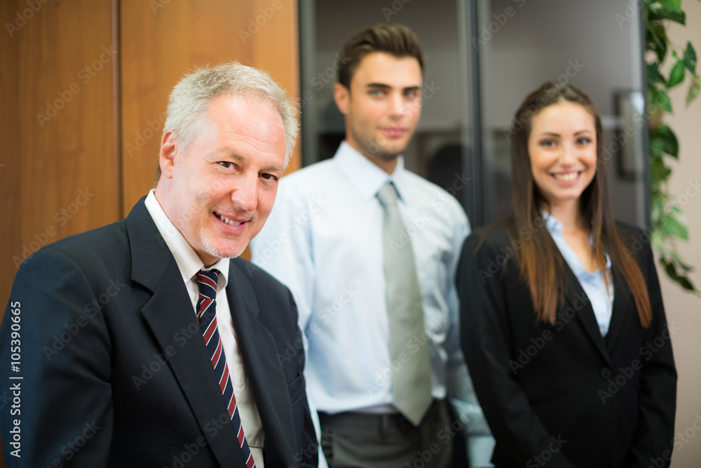
[{"label": "dark navy suit jacket worn by the older grey-haired man", "polygon": [[[226,294],[266,467],[316,466],[290,291],[237,258]],[[144,199],[125,220],[25,260],[0,328],[0,362],[4,389],[21,386],[19,412],[0,410],[8,467],[245,467],[182,275]],[[21,458],[11,454],[14,420]]]}]

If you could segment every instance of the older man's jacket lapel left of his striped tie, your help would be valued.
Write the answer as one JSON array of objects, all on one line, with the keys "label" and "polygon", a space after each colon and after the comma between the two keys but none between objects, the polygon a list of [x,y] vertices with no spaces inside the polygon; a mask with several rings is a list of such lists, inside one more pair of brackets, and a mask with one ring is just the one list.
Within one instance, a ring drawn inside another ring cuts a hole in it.
[{"label": "older man's jacket lapel left of his striped tie", "polygon": [[[132,280],[151,292],[142,315],[189,403],[212,452],[223,467],[245,466],[232,424],[207,431],[226,413],[195,312],[170,249],[161,238],[144,199],[127,218],[132,247]],[[169,352],[170,351],[170,352]],[[217,422],[217,424],[219,424]]]}]

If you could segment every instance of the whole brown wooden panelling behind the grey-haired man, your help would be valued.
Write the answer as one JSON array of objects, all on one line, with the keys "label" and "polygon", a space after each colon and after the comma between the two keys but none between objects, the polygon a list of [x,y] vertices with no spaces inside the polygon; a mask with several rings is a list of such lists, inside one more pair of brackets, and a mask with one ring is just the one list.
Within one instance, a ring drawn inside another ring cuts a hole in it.
[{"label": "whole brown wooden panelling behind the grey-haired man", "polygon": [[238,60],[298,94],[294,0],[2,0],[0,24],[0,314],[24,258],[149,191],[186,72]]}]

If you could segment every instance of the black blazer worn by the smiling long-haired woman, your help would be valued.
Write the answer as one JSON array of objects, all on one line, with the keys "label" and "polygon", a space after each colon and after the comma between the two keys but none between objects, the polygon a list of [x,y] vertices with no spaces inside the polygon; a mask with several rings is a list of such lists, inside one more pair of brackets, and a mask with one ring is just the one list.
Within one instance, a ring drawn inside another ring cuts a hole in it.
[{"label": "black blazer worn by the smiling long-haired woman", "polygon": [[653,321],[641,327],[614,265],[613,315],[605,338],[564,259],[565,305],[554,325],[536,323],[503,225],[486,235],[476,253],[484,229],[465,241],[456,279],[463,351],[496,439],[496,467],[547,462],[548,468],[646,468],[651,458],[658,460],[655,466],[669,465],[674,328],[667,328],[649,246],[639,231],[620,229],[626,241],[637,239],[630,252],[648,286]]}]

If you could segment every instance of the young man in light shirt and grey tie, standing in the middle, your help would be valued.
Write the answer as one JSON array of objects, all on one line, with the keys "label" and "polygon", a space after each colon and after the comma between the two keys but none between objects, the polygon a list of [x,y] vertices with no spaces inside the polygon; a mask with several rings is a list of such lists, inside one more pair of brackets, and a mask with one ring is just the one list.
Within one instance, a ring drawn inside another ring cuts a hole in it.
[{"label": "young man in light shirt and grey tie, standing in the middle", "polygon": [[329,466],[447,467],[461,432],[472,463],[489,464],[453,283],[468,220],[400,156],[421,115],[421,46],[407,27],[378,25],[341,54],[334,99],[346,140],[332,160],[283,179],[254,263],[297,301]]}]

